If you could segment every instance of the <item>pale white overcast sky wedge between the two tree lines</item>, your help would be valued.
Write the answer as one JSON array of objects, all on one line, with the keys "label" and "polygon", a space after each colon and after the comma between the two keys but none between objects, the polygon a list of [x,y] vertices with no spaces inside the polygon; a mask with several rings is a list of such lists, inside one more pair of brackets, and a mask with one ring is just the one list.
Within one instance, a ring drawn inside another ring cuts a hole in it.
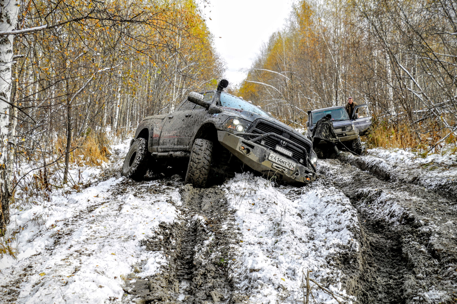
[{"label": "pale white overcast sky wedge between the two tree lines", "polygon": [[251,66],[262,42],[282,28],[291,8],[291,0],[212,0],[204,8],[230,84],[244,80],[246,73],[239,70]]}]

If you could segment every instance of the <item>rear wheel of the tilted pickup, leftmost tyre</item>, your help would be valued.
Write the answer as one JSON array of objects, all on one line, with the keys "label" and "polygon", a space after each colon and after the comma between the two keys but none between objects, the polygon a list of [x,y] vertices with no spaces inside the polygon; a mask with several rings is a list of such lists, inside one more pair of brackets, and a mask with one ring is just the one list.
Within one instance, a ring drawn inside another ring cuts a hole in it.
[{"label": "rear wheel of the tilted pickup, leftmost tyre", "polygon": [[146,171],[148,170],[148,147],[146,140],[137,138],[128,150],[127,156],[122,166],[122,176],[133,180],[143,180]]}]

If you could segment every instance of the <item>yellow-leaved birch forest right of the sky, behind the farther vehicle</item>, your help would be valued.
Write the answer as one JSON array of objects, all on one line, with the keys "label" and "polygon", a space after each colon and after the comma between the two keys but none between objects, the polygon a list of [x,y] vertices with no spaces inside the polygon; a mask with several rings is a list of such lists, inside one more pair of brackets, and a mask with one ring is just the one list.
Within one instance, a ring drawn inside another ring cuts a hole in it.
[{"label": "yellow-leaved birch forest right of the sky, behind the farther vehicle", "polygon": [[451,0],[300,1],[238,93],[302,128],[307,110],[353,97],[376,116],[372,146],[455,144],[456,10]]}]

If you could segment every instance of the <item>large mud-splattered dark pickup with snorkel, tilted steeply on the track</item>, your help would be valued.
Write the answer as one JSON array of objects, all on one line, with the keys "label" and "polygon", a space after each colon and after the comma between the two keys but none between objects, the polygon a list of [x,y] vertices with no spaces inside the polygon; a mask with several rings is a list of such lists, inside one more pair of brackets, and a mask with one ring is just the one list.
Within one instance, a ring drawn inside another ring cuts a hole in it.
[{"label": "large mud-splattered dark pickup with snorkel, tilted steeply on the track", "polygon": [[190,93],[173,113],[143,119],[122,175],[141,180],[148,169],[182,164],[185,182],[201,188],[249,168],[289,183],[314,181],[312,142],[261,108],[222,92],[227,86],[223,79],[216,90]]}]

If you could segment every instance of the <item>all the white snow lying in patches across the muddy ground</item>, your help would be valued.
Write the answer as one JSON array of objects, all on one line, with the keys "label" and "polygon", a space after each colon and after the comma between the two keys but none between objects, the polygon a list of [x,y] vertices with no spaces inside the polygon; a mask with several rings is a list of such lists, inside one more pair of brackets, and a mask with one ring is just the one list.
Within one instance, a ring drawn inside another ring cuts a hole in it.
[{"label": "all the white snow lying in patches across the muddy ground", "polygon": [[[184,225],[190,209],[183,205],[192,197],[181,198],[181,193],[200,192],[189,190],[178,175],[141,183],[118,174],[103,178],[104,168],[120,170],[128,142],[112,146],[115,156],[109,164],[70,170],[72,178],[89,185],[85,189],[56,189],[49,201],[12,205],[7,237],[14,238],[17,258],[3,255],[0,259],[2,303],[131,303],[139,298],[125,296],[130,283],[164,274],[170,256],[163,248],[148,251],[144,244],[151,237],[160,239],[168,229],[164,227]],[[457,175],[455,155],[432,156],[419,159],[403,150],[371,149],[357,159],[383,168],[396,180],[422,174],[439,177],[435,184],[427,184],[430,187],[445,185],[443,180]],[[224,210],[234,215],[233,223],[221,224],[227,238],[237,239],[234,258],[228,263],[233,291],[243,294],[246,303],[301,303],[307,270],[310,278],[342,296],[337,298],[341,302],[356,302],[355,297],[347,298],[351,293],[343,282],[352,278],[344,273],[341,261],[359,261],[362,255],[358,237],[363,234],[363,221],[359,222],[358,212],[363,211],[367,219],[385,219],[393,227],[417,218],[414,206],[426,204],[407,187],[387,188],[374,177],[370,184],[363,179],[357,182],[350,197],[360,200],[352,204],[337,181],[357,180],[361,171],[339,160],[319,161],[318,169],[320,179],[303,187],[277,185],[251,173],[237,174],[217,186],[228,202]],[[202,216],[189,221],[205,229],[211,223]],[[211,249],[208,244],[215,236],[209,229],[202,231],[199,237],[206,241],[196,242],[196,256]],[[338,303],[316,284],[311,286],[317,303]],[[429,289],[429,298],[438,301],[441,291],[435,291]]]}]

